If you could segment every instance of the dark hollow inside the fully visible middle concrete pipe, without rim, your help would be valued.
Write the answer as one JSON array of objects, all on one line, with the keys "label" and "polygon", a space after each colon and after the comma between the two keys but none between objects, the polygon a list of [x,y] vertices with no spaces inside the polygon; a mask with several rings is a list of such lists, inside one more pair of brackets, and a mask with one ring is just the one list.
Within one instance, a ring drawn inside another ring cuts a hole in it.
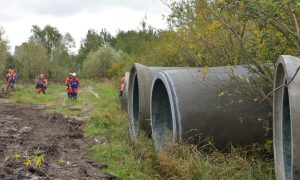
[{"label": "dark hollow inside the fully visible middle concrete pipe, without rim", "polygon": [[161,149],[173,139],[171,102],[163,81],[153,84],[151,97],[152,137],[156,149]]}]

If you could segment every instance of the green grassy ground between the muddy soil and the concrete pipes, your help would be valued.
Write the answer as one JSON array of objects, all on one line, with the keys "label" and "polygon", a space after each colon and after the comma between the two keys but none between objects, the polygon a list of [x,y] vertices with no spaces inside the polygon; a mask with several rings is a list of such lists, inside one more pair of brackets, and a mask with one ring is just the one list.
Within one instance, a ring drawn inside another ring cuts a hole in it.
[{"label": "green grassy ground between the muddy soil and the concrete pipes", "polygon": [[67,99],[63,84],[50,83],[46,95],[37,95],[34,85],[19,85],[11,99],[44,104],[50,108],[47,113],[87,118],[84,135],[99,140],[87,148],[88,154],[108,165],[103,171],[120,179],[274,179],[272,158],[257,146],[221,153],[212,147],[177,144],[157,154],[151,139],[143,135],[138,144],[131,144],[116,87],[112,82],[83,80],[78,100],[73,101]]}]

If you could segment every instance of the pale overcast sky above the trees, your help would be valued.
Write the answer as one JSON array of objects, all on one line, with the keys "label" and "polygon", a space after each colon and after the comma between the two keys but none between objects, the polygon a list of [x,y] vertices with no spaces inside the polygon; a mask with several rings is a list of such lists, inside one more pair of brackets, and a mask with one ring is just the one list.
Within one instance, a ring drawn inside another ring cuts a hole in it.
[{"label": "pale overcast sky above the trees", "polygon": [[149,25],[162,29],[167,27],[163,15],[169,12],[160,0],[0,0],[0,26],[12,52],[28,40],[32,25],[69,32],[79,48],[90,28],[106,28],[113,35],[118,29],[137,30],[146,15]]}]

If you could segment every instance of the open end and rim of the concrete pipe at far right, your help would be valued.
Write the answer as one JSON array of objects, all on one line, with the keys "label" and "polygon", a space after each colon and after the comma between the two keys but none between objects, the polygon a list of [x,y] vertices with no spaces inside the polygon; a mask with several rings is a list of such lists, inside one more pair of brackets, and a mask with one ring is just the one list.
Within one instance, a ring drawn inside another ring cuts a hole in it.
[{"label": "open end and rim of the concrete pipe at far right", "polygon": [[[288,81],[287,66],[284,57],[280,57],[275,73],[274,88]],[[289,87],[274,92],[273,98],[273,140],[276,176],[279,179],[292,178],[292,125]]]}]

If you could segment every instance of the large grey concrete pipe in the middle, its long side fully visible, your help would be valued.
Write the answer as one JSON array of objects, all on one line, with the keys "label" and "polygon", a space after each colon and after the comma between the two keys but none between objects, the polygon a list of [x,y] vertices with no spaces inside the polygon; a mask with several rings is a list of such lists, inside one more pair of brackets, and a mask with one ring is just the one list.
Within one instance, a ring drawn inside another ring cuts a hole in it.
[{"label": "large grey concrete pipe in the middle, its long side fully visible", "polygon": [[270,121],[271,106],[258,104],[236,90],[237,83],[247,82],[233,80],[233,75],[249,77],[241,66],[212,67],[206,74],[200,73],[199,68],[157,73],[151,90],[156,149],[181,139],[197,144],[210,139],[218,148],[228,143],[263,143],[266,129],[259,120]]}]

